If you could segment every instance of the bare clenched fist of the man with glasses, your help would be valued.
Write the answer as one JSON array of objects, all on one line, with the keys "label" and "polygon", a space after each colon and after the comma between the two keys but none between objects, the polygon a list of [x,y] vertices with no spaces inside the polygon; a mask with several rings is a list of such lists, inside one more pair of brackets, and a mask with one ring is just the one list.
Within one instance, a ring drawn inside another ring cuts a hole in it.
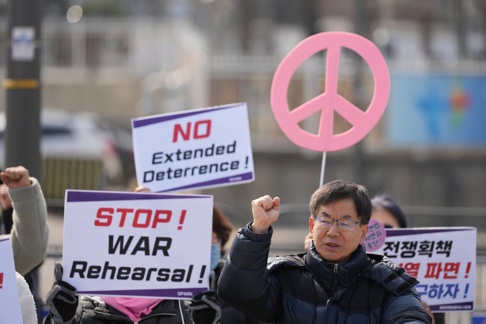
[{"label": "bare clenched fist of the man with glasses", "polygon": [[255,233],[266,233],[270,225],[278,219],[280,198],[266,195],[251,202],[253,224],[251,230]]}]

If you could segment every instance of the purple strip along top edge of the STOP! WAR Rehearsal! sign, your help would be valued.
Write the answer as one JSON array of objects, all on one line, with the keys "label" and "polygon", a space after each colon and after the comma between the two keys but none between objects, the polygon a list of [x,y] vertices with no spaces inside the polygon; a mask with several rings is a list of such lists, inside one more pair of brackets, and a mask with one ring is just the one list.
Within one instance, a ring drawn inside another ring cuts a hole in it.
[{"label": "purple strip along top edge of the STOP! WAR Rehearsal! sign", "polygon": [[143,200],[143,199],[181,199],[181,198],[210,198],[211,196],[182,196],[182,195],[158,195],[153,193],[133,192],[102,192],[102,191],[75,191],[66,193],[68,203],[74,202],[101,202],[114,200]]}]

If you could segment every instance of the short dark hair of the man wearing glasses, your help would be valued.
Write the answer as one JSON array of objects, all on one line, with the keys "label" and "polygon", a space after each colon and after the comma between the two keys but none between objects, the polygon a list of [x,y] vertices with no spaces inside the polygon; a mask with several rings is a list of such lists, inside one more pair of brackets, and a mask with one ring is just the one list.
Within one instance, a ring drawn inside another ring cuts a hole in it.
[{"label": "short dark hair of the man wearing glasses", "polygon": [[344,180],[328,182],[321,188],[315,190],[311,196],[309,209],[315,215],[320,205],[329,205],[341,199],[351,199],[358,212],[358,219],[363,224],[367,224],[371,218],[371,199],[368,189],[362,185]]}]

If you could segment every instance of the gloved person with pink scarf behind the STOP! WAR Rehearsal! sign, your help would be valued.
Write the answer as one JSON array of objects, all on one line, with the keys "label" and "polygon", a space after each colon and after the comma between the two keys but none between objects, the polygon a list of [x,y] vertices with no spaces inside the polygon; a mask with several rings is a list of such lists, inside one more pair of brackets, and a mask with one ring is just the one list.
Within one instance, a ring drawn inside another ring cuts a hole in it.
[{"label": "gloved person with pink scarf behind the STOP! WAR Rehearsal! sign", "polygon": [[[135,191],[151,192],[145,187],[138,187]],[[211,251],[220,251],[219,242],[220,240],[217,239]],[[219,260],[221,252],[217,255]],[[214,263],[217,264],[218,260]],[[76,289],[62,280],[62,266],[59,262],[55,265],[54,276],[56,281],[46,298],[50,312],[44,324],[217,324],[221,316],[221,307],[214,290],[207,290],[194,296],[191,302],[153,298],[78,296]]]}]

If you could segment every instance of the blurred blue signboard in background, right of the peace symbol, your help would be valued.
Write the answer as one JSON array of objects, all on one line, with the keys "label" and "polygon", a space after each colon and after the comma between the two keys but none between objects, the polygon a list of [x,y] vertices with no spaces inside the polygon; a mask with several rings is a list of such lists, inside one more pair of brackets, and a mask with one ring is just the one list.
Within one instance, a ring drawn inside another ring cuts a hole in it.
[{"label": "blurred blue signboard in background, right of the peace symbol", "polygon": [[401,147],[486,147],[486,76],[392,75],[387,137]]}]

